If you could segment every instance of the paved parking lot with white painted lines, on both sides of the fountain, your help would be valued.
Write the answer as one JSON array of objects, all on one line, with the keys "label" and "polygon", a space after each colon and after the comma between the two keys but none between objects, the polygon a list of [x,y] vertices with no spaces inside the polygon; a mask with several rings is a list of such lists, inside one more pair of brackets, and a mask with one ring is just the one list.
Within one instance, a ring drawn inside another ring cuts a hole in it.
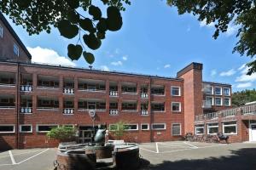
[{"label": "paved parking lot with white painted lines, on both sides of the fountain", "polygon": [[[157,142],[140,144],[141,169],[256,169],[256,143],[207,144]],[[0,152],[1,170],[53,170],[55,149]]]}]

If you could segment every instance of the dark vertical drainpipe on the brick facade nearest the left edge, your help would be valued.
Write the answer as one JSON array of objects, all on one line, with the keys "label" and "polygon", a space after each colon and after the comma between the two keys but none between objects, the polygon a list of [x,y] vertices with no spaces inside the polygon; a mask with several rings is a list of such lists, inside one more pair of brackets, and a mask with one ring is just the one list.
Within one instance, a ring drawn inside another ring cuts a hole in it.
[{"label": "dark vertical drainpipe on the brick facade nearest the left edge", "polygon": [[19,149],[19,126],[20,126],[20,63],[17,62],[17,77],[16,77],[16,148]]}]

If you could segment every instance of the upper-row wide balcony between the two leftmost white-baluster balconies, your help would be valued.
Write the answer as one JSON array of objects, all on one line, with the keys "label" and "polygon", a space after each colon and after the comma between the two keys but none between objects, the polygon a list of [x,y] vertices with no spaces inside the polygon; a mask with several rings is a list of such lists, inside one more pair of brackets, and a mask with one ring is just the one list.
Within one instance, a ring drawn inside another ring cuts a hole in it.
[{"label": "upper-row wide balcony between the two leftmost white-baluster balconies", "polygon": [[59,77],[38,76],[38,88],[58,89]]}]

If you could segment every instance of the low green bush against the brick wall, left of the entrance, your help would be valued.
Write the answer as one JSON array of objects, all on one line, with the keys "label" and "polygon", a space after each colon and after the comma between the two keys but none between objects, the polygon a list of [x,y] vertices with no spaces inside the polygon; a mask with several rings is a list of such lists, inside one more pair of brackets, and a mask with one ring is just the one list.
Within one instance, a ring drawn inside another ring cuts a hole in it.
[{"label": "low green bush against the brick wall, left of the entrance", "polygon": [[57,127],[52,128],[49,133],[46,134],[50,139],[59,139],[61,141],[67,141],[74,139],[75,129],[73,127]]}]

